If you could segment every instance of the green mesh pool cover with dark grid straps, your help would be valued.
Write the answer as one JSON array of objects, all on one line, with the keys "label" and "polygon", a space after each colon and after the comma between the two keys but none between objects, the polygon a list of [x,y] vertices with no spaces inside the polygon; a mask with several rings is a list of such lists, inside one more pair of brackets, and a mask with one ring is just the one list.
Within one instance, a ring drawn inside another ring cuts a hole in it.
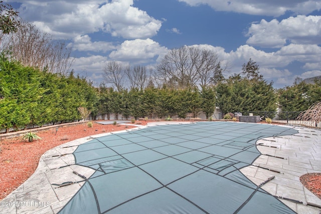
[{"label": "green mesh pool cover with dark grid straps", "polygon": [[59,213],[295,213],[239,169],[258,139],[296,130],[201,122],[111,134],[75,150],[95,171]]}]

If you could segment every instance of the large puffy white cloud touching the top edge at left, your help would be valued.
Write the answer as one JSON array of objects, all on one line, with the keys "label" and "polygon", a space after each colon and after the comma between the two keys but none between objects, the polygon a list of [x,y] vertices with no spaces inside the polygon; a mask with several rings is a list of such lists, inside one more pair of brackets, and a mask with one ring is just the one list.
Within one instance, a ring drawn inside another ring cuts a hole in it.
[{"label": "large puffy white cloud touching the top edge at left", "polygon": [[162,21],[133,7],[133,0],[17,2],[22,3],[21,17],[64,39],[98,31],[127,39],[145,39],[156,35],[162,26]]}]

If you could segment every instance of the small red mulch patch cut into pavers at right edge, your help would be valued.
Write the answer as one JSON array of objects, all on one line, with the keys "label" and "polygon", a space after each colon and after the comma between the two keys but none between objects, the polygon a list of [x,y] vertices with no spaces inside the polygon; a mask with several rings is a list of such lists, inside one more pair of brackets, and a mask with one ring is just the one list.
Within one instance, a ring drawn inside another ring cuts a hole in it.
[{"label": "small red mulch patch cut into pavers at right edge", "polygon": [[300,177],[301,183],[321,199],[321,173],[307,173]]}]

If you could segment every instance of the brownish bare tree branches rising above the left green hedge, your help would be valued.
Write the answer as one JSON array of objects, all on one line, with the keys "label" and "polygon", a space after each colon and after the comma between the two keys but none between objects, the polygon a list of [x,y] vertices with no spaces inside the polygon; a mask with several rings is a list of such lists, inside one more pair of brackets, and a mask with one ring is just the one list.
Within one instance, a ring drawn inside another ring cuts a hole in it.
[{"label": "brownish bare tree branches rising above the left green hedge", "polygon": [[64,42],[53,40],[32,23],[22,22],[17,32],[8,37],[8,44],[3,47],[9,47],[11,57],[23,65],[62,75],[70,72],[73,63],[71,49],[66,48]]}]

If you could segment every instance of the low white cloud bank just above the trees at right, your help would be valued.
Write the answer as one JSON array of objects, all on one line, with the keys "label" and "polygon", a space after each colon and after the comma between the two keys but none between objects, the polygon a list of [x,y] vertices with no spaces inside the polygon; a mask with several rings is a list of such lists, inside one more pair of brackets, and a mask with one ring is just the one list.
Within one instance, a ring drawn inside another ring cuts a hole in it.
[{"label": "low white cloud bank just above the trees at right", "polygon": [[[225,52],[222,47],[214,47],[206,44],[193,46],[215,51],[223,64],[228,63],[231,65],[229,74],[240,73],[242,71],[242,65],[252,58],[252,60],[259,65],[259,72],[263,75],[264,79],[268,81],[273,80],[275,87],[283,87],[284,85],[291,85],[293,83],[295,74],[284,67],[295,60],[305,63],[303,67],[305,70],[308,67],[315,67],[313,74],[310,74],[310,72],[307,73],[310,75],[308,77],[320,75],[318,74],[317,68],[320,67],[318,59],[321,55],[317,54],[320,52],[319,49],[321,49],[321,47],[316,45],[291,44],[277,52],[265,52],[249,45],[242,45],[231,52]],[[311,57],[306,57],[307,54],[311,54]],[[309,61],[313,61],[313,63]]]}]

